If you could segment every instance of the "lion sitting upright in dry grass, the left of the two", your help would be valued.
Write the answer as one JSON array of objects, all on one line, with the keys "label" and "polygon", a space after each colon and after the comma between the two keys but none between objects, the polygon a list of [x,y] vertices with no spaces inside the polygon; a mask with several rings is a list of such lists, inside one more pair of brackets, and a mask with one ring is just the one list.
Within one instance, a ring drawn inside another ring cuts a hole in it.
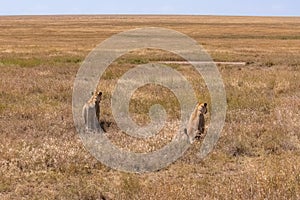
[{"label": "lion sitting upright in dry grass, the left of the two", "polygon": [[84,104],[82,108],[85,128],[89,131],[99,129],[101,99],[102,92],[99,92],[96,96],[94,96],[94,93],[92,93],[92,97],[87,103]]}]

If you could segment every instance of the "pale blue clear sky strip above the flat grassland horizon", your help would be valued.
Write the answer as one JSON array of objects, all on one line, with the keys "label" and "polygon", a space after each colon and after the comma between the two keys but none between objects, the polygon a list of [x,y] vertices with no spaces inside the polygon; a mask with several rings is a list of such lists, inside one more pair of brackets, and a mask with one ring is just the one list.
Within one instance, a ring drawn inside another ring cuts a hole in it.
[{"label": "pale blue clear sky strip above the flat grassland horizon", "polygon": [[0,15],[51,14],[300,16],[300,0],[0,0]]}]

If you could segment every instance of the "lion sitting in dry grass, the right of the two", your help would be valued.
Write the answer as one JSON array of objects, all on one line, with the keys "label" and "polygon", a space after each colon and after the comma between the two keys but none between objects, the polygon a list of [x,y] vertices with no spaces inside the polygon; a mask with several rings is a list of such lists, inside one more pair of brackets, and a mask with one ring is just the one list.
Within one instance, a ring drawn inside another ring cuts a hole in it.
[{"label": "lion sitting in dry grass, the right of the two", "polygon": [[187,128],[184,130],[192,144],[194,138],[204,133],[205,119],[204,114],[207,113],[207,103],[197,103],[194,111],[192,112]]}]

